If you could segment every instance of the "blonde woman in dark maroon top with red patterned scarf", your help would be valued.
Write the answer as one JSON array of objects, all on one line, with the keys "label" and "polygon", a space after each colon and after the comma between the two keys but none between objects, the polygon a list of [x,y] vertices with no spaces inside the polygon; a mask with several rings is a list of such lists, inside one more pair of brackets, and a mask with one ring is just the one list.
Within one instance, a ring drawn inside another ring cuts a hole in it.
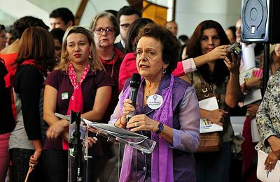
[{"label": "blonde woman in dark maroon top with red patterned scarf", "polygon": [[[90,31],[81,26],[69,27],[63,38],[61,61],[45,80],[43,118],[50,127],[43,160],[48,181],[67,181],[69,121],[59,119],[55,112],[65,115],[70,110],[80,111],[87,120],[102,121],[113,85],[110,75],[102,70]],[[99,141],[89,142],[94,158],[88,160],[88,165],[92,165],[88,181],[95,181],[100,172]]]}]

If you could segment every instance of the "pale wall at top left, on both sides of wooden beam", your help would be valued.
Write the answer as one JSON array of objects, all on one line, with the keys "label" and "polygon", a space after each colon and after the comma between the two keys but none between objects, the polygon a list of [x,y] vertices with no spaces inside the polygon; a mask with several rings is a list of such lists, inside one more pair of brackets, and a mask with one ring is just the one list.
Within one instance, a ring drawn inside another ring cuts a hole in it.
[{"label": "pale wall at top left, on both sides of wooden beam", "polygon": [[[0,24],[10,25],[20,17],[31,15],[49,25],[49,14],[55,8],[69,8],[75,15],[79,0],[0,0]],[[128,5],[126,0],[89,0],[80,20],[81,26],[89,26],[92,17],[102,10],[119,10]]]}]

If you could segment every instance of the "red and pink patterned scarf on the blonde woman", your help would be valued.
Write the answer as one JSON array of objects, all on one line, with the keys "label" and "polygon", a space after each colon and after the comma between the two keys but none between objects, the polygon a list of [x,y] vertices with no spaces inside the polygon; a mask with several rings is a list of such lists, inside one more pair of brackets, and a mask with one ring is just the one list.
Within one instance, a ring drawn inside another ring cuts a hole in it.
[{"label": "red and pink patterned scarf on the blonde woman", "polygon": [[[82,93],[82,82],[87,76],[87,73],[90,71],[90,65],[87,64],[85,70],[83,70],[83,74],[80,77],[80,81],[76,83],[76,72],[75,68],[73,68],[73,64],[71,61],[68,64],[68,75],[71,80],[71,84],[73,85],[73,94],[70,98],[69,107],[67,110],[67,114],[70,115],[70,111],[83,113],[83,93]],[[64,139],[62,140],[62,146],[64,150],[68,150],[69,144]]]}]

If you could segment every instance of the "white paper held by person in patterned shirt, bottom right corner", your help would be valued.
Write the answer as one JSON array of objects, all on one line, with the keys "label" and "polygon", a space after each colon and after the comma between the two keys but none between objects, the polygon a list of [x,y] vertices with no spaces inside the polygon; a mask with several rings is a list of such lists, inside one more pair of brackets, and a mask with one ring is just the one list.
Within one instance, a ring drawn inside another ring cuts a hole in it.
[{"label": "white paper held by person in patterned shirt, bottom right corner", "polygon": [[258,151],[258,168],[257,178],[264,182],[276,182],[280,181],[280,161],[278,160],[272,172],[265,170],[265,159],[268,154],[264,151]]}]

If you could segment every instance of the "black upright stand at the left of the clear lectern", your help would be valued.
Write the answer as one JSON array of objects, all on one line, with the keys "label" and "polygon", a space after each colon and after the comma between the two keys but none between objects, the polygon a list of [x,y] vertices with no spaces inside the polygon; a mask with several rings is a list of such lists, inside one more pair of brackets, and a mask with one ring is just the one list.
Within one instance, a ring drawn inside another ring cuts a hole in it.
[{"label": "black upright stand at the left of the clear lectern", "polygon": [[69,139],[69,148],[73,149],[73,160],[71,160],[71,181],[84,181],[83,170],[83,139],[80,139],[80,112],[71,111],[71,123],[75,122],[73,137]]}]

